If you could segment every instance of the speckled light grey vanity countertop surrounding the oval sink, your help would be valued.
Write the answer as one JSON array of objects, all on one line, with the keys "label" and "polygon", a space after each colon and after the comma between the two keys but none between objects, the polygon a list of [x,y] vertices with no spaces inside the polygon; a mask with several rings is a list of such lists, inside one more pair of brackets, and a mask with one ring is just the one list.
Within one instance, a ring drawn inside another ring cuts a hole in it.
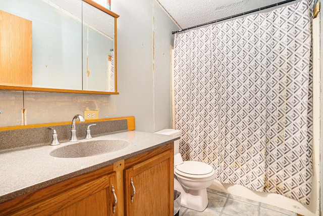
[{"label": "speckled light grey vanity countertop surrounding the oval sink", "polygon": [[0,154],[0,203],[165,145],[178,140],[179,136],[128,131],[91,140],[102,139],[126,140],[130,144],[115,152],[81,158],[58,158],[49,153],[62,146],[89,140]]}]

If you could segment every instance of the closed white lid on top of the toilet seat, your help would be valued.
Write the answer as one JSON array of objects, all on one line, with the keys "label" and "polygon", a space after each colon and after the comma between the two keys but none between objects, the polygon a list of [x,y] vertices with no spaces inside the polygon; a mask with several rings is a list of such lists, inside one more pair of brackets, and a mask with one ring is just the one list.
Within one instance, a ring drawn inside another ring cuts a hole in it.
[{"label": "closed white lid on top of the toilet seat", "polygon": [[213,171],[212,166],[199,161],[184,161],[184,163],[177,165],[176,169],[186,174],[191,175],[206,175]]}]

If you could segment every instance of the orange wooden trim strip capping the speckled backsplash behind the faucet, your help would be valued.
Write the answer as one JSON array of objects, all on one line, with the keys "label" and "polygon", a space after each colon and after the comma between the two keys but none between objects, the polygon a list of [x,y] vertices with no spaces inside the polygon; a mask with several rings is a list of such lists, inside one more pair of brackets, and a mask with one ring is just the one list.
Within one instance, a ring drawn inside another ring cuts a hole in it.
[{"label": "orange wooden trim strip capping the speckled backsplash behind the faucet", "polygon": [[[127,119],[128,131],[134,131],[136,129],[135,117],[134,116],[118,117],[118,118],[93,119],[93,120],[86,120],[85,122],[82,122],[82,123],[98,122],[98,121],[113,121],[113,120],[121,120],[121,119]],[[26,129],[26,128],[33,128],[33,127],[48,127],[48,126],[57,126],[57,125],[65,125],[65,124],[71,124],[71,121],[45,123],[45,124],[30,124],[30,125],[21,125],[21,126],[0,127],[0,131],[9,131],[9,130],[13,130],[13,129]]]}]

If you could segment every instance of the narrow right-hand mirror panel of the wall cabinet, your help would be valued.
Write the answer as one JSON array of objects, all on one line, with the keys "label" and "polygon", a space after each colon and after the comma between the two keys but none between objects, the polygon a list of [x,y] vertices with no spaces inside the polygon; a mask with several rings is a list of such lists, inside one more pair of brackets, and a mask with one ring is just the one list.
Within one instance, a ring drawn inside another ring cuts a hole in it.
[{"label": "narrow right-hand mirror panel of the wall cabinet", "polygon": [[83,90],[115,91],[115,19],[109,14],[82,5]]}]

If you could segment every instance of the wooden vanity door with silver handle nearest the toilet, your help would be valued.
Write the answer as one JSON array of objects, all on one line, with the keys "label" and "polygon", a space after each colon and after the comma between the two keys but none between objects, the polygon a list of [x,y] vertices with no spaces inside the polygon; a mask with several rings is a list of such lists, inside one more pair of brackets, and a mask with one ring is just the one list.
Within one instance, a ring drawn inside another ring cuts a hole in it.
[{"label": "wooden vanity door with silver handle nearest the toilet", "polygon": [[126,215],[173,215],[173,171],[173,151],[125,169]]}]

